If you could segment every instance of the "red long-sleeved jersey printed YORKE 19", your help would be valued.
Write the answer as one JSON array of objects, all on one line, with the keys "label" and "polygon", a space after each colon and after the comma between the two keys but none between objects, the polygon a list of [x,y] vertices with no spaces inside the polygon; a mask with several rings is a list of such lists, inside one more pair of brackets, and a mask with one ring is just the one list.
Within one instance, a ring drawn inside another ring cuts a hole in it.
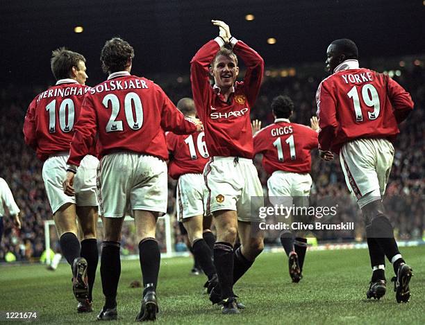
[{"label": "red long-sleeved jersey printed YORKE 19", "polygon": [[397,123],[413,109],[412,98],[397,82],[346,60],[323,80],[316,94],[319,148],[338,153],[359,138],[395,139]]}]

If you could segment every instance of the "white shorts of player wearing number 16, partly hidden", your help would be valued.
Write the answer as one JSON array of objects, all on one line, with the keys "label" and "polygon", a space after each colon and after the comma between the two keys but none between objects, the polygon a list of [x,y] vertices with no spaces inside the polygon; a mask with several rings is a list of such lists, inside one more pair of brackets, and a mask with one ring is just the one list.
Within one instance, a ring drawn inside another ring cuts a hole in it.
[{"label": "white shorts of player wearing number 16, partly hidden", "polygon": [[177,182],[177,218],[203,216],[206,193],[205,182],[202,174],[185,174],[178,177]]}]

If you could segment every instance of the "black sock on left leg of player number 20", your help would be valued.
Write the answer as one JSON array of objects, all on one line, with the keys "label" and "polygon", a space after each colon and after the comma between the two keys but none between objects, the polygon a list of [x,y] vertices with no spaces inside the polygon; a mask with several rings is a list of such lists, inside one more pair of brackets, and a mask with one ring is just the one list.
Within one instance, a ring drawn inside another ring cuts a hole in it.
[{"label": "black sock on left leg of player number 20", "polygon": [[108,309],[117,306],[117,288],[120,275],[119,243],[104,241],[101,254],[101,279],[103,295],[105,295],[105,307]]}]

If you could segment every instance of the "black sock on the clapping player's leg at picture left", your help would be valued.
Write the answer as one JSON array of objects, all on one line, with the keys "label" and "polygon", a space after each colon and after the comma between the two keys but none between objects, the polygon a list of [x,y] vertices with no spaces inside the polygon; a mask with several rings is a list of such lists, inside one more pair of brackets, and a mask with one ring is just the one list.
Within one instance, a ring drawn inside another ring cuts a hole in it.
[{"label": "black sock on the clapping player's leg at picture left", "polygon": [[219,278],[222,298],[234,297],[233,294],[233,246],[230,243],[217,242],[214,245],[214,264]]}]

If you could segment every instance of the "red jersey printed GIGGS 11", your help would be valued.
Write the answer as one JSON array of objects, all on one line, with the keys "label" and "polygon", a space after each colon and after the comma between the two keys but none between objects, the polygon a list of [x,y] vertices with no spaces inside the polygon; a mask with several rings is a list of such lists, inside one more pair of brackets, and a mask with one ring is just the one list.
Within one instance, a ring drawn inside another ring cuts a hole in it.
[{"label": "red jersey printed GIGGS 11", "polygon": [[263,167],[268,174],[276,170],[310,173],[310,150],[317,148],[317,132],[306,125],[276,118],[253,138],[254,152],[263,153]]}]

